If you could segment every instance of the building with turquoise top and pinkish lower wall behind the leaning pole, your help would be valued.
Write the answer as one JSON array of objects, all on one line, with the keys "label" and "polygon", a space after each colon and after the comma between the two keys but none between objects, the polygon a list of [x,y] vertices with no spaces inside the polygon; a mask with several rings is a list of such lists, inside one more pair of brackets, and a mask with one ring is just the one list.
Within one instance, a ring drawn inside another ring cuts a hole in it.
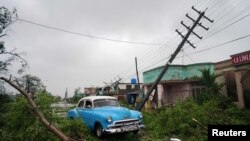
[{"label": "building with turquoise top and pinkish lower wall behind the leaning pole", "polygon": [[[150,89],[159,76],[163,66],[143,72],[144,93]],[[198,63],[190,65],[170,65],[156,91],[150,98],[150,106],[161,107],[162,105],[175,105],[177,100],[184,100],[188,96],[195,97],[205,87],[199,85],[197,77],[201,77],[201,69],[210,69],[214,73],[214,63]]]}]

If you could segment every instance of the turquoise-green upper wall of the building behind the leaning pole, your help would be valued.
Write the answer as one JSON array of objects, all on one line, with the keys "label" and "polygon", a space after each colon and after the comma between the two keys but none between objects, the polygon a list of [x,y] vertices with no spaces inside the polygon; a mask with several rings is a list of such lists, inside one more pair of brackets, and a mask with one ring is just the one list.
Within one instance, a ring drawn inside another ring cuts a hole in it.
[{"label": "turquoise-green upper wall of the building behind the leaning pole", "polygon": [[[200,69],[210,69],[214,73],[213,63],[199,63],[190,65],[171,65],[161,80],[187,80],[192,77],[200,77]],[[144,84],[153,83],[159,76],[163,66],[143,72]]]}]

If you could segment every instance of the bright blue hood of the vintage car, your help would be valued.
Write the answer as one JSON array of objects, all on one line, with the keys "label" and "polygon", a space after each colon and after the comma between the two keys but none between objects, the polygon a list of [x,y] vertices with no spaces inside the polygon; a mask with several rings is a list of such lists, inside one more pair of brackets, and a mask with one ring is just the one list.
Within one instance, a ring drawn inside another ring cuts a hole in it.
[{"label": "bright blue hood of the vintage car", "polygon": [[124,107],[97,107],[95,113],[111,116],[113,120],[123,120],[131,118],[131,111]]}]

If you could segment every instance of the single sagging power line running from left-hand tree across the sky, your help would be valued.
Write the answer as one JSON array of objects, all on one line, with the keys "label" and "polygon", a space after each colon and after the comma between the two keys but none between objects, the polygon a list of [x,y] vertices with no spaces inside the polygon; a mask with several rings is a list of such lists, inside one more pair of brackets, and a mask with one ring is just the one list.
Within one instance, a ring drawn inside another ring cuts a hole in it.
[{"label": "single sagging power line running from left-hand tree across the sky", "polygon": [[21,18],[16,18],[16,19],[19,20],[19,21],[23,21],[23,22],[33,24],[33,25],[36,25],[36,26],[40,26],[40,27],[43,27],[43,28],[48,28],[48,29],[52,29],[52,30],[57,30],[57,31],[61,31],[61,32],[69,33],[69,34],[85,36],[85,37],[94,38],[94,39],[101,39],[101,40],[112,41],[112,42],[120,42],[120,43],[129,43],[129,44],[141,44],[141,45],[152,45],[152,46],[159,46],[160,45],[160,44],[157,44],[157,43],[143,43],[143,42],[115,40],[115,39],[110,39],[110,38],[105,38],[105,37],[99,37],[99,36],[94,36],[94,35],[89,35],[89,34],[73,32],[73,31],[62,29],[62,28],[52,27],[52,26],[48,26],[48,25],[28,21],[28,20],[21,19]]}]

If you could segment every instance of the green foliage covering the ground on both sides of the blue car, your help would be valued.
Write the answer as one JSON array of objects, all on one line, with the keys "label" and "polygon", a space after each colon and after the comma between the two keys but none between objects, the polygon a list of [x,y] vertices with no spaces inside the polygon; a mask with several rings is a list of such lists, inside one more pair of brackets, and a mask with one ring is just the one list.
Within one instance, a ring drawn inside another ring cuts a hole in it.
[{"label": "green foliage covering the ground on both sides of the blue car", "polygon": [[[54,96],[44,92],[35,96],[34,100],[46,118],[67,136],[75,140],[100,141],[82,120],[69,120],[52,114],[50,105],[55,102]],[[0,141],[59,141],[35,117],[24,97],[6,102],[4,107],[7,111],[1,112],[4,124],[0,125]],[[188,98],[177,102],[174,107],[143,111],[143,116],[146,127],[138,134],[109,135],[102,140],[169,141],[171,137],[177,137],[188,141],[207,141],[206,128],[209,124],[250,124],[250,112],[237,108],[229,98],[221,95],[208,96],[200,104]]]}]

